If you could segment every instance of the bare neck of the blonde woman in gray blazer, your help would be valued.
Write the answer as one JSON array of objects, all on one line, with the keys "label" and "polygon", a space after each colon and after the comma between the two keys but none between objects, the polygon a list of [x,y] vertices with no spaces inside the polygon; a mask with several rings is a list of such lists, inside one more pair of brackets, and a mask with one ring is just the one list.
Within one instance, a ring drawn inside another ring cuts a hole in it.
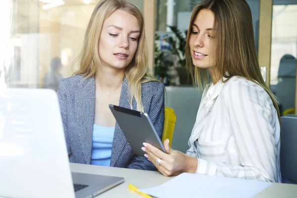
[{"label": "bare neck of the blonde woman in gray blazer", "polygon": [[124,69],[101,67],[95,74],[96,86],[102,91],[116,91],[122,87],[124,76]]}]

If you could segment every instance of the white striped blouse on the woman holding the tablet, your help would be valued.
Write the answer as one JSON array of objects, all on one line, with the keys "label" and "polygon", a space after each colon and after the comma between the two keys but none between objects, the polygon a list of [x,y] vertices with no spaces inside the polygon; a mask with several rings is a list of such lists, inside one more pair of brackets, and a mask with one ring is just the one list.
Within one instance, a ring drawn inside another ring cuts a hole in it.
[{"label": "white striped blouse on the woman holding the tablet", "polygon": [[196,173],[281,182],[277,111],[266,91],[244,78],[205,88],[189,147]]}]

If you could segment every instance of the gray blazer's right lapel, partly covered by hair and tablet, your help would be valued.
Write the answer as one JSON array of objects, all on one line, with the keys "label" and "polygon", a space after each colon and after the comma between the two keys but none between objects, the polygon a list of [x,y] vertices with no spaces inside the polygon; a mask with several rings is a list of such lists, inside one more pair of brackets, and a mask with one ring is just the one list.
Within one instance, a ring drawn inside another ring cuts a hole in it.
[{"label": "gray blazer's right lapel, partly covered by hair and tablet", "polygon": [[[124,77],[122,90],[121,90],[121,96],[120,96],[120,102],[119,106],[124,108],[131,108],[130,107],[130,91],[128,88],[128,81],[126,77]],[[133,99],[133,109],[137,109],[136,101]],[[119,159],[123,149],[127,145],[127,139],[125,138],[122,130],[119,127],[118,122],[115,123],[115,129],[114,129],[114,136],[113,136],[113,142],[112,142],[112,149],[111,149],[111,159],[110,159],[110,166],[115,166],[117,160]]]}]

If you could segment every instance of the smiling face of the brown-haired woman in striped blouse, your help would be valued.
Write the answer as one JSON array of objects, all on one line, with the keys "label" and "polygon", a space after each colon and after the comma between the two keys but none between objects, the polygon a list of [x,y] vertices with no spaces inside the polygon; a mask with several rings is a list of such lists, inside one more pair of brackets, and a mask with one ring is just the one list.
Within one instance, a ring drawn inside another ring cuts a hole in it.
[{"label": "smiling face of the brown-haired woman in striped blouse", "polygon": [[199,68],[209,69],[213,65],[214,48],[210,50],[213,39],[214,15],[208,9],[201,9],[192,23],[189,40],[193,64]]}]

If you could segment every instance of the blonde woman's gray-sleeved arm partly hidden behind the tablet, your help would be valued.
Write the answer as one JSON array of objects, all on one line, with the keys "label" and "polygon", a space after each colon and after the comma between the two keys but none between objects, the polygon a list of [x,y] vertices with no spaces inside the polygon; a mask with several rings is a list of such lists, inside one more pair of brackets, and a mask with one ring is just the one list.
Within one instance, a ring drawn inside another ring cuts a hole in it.
[{"label": "blonde woman's gray-sleeved arm partly hidden behind the tablet", "polygon": [[[159,138],[162,140],[164,126],[164,85],[161,83],[159,83],[158,90],[151,100],[148,115]],[[155,166],[146,157],[138,155],[132,157],[128,168],[156,170]]]}]

